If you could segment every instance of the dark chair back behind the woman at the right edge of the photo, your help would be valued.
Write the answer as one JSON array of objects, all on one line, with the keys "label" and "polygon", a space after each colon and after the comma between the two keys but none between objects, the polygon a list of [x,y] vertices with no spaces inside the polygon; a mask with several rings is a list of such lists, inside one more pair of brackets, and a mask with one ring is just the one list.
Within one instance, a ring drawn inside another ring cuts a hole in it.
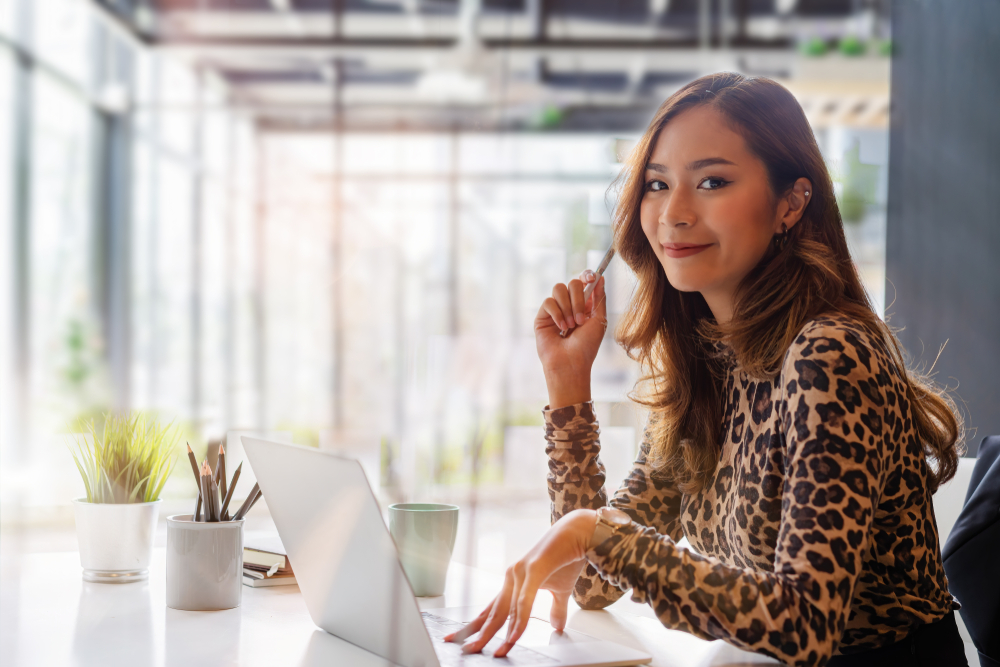
[{"label": "dark chair back behind the woman at the right edge of the photo", "polygon": [[983,667],[1000,667],[1000,435],[983,438],[944,550],[948,587]]}]

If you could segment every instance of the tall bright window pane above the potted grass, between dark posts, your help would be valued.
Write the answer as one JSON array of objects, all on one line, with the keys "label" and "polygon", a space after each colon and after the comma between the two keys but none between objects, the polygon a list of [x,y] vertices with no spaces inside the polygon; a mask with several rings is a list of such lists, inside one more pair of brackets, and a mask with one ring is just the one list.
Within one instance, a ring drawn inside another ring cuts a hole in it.
[{"label": "tall bright window pane above the potted grass, between dark posts", "polygon": [[109,400],[92,263],[92,118],[61,83],[43,73],[32,83],[31,397],[59,429]]}]

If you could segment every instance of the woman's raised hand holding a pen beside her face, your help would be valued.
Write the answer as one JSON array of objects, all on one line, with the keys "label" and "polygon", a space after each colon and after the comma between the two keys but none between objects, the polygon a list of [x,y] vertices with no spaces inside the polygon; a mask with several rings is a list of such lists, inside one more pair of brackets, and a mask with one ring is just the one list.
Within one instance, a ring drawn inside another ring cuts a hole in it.
[{"label": "woman's raised hand holding a pen beside her face", "polygon": [[[597,287],[584,301],[586,286]],[[549,389],[549,408],[590,400],[590,370],[608,326],[604,277],[589,269],[579,279],[558,283],[535,317],[535,347]],[[560,331],[569,330],[565,338]]]}]

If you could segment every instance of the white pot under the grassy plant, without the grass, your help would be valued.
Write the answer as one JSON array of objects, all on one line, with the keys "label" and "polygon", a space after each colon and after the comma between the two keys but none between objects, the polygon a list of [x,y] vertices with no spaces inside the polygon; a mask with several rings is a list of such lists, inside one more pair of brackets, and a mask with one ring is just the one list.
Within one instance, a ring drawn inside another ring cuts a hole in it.
[{"label": "white pot under the grassy plant, without the grass", "polygon": [[149,578],[160,500],[151,503],[73,501],[83,580],[128,583]]}]

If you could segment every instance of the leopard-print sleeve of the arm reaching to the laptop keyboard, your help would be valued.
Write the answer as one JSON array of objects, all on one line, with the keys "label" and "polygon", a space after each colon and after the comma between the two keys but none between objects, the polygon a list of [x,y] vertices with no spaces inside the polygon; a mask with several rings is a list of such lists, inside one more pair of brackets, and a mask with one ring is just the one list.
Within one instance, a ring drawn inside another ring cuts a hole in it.
[{"label": "leopard-print sleeve of the arm reaching to the laptop keyboard", "polygon": [[796,339],[779,382],[774,427],[784,439],[784,479],[762,482],[781,485],[773,572],[697,555],[638,523],[587,558],[668,627],[793,665],[824,665],[871,543],[889,378],[857,337],[819,327]]}]

